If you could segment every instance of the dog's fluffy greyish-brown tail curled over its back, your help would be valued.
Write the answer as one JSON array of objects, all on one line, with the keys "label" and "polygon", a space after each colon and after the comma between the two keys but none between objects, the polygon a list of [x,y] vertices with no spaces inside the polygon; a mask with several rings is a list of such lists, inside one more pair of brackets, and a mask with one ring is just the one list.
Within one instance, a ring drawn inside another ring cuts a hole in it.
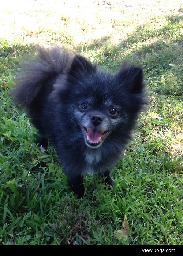
[{"label": "dog's fluffy greyish-brown tail curled over its back", "polygon": [[16,86],[10,95],[16,104],[29,107],[49,79],[63,73],[70,61],[69,53],[59,47],[49,50],[38,48],[38,56],[22,63],[22,71],[16,77]]}]

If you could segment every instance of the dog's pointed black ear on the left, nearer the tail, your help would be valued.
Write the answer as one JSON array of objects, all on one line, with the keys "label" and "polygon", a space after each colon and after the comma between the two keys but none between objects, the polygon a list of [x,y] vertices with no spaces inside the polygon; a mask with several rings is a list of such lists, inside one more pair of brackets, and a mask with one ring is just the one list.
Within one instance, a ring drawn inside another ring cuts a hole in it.
[{"label": "dog's pointed black ear on the left, nearer the tail", "polygon": [[95,73],[96,65],[91,64],[84,57],[76,55],[72,61],[70,70],[68,73],[71,76],[78,77],[78,74],[82,73]]}]

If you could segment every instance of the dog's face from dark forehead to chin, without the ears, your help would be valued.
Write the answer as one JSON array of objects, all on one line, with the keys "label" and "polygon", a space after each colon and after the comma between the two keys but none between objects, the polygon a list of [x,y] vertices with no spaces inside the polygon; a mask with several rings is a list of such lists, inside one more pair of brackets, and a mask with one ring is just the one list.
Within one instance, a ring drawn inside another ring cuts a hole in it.
[{"label": "dog's face from dark forehead to chin, without the ears", "polygon": [[[74,91],[74,116],[81,127],[85,143],[90,148],[102,145],[105,139],[127,122],[121,106],[121,95],[115,91],[111,75],[96,74],[84,81],[85,86]],[[111,82],[110,82],[111,80]],[[73,108],[72,108],[73,109]]]}]

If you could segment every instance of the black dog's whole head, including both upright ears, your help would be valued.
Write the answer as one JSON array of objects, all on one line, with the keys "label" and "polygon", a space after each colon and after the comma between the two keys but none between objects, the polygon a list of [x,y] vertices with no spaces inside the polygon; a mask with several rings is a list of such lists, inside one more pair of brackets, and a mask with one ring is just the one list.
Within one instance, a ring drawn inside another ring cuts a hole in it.
[{"label": "black dog's whole head, including both upright ears", "polygon": [[143,89],[139,67],[123,67],[112,76],[97,71],[96,66],[76,56],[67,83],[69,112],[90,148],[100,147],[109,134],[120,132],[129,122],[130,113],[140,108],[135,100]]}]

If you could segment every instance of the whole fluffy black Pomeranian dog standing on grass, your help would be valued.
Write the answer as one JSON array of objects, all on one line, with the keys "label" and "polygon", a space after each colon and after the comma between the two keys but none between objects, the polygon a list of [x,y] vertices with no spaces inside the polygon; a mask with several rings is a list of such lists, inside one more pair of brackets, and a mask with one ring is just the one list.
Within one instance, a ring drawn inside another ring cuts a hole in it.
[{"label": "whole fluffy black Pomeranian dog standing on grass", "polygon": [[78,198],[86,173],[113,185],[110,170],[148,104],[142,68],[124,64],[112,75],[58,47],[38,53],[23,63],[11,95],[38,129],[39,147],[44,151],[48,140],[55,146]]}]

